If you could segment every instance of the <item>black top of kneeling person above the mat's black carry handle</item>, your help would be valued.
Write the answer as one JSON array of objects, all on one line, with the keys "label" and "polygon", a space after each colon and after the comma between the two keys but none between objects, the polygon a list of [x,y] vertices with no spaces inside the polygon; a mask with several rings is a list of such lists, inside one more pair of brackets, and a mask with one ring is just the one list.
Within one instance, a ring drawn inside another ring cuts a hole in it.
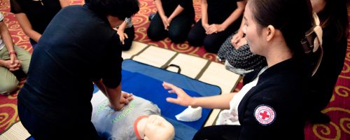
[{"label": "black top of kneeling person above the mat's black carry handle", "polygon": [[193,8],[193,1],[192,0],[162,0],[162,7],[165,12],[165,15],[168,17],[172,15],[174,10],[177,6],[181,6],[184,8],[183,12],[180,14],[184,15],[192,15],[193,18],[195,17],[195,8]]}]

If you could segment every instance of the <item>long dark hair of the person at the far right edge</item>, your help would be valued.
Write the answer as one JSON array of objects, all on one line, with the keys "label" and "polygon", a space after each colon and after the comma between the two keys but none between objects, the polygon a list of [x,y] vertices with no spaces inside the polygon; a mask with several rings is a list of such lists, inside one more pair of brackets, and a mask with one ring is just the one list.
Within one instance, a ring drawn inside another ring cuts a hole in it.
[{"label": "long dark hair of the person at the far right edge", "polygon": [[335,23],[337,36],[335,41],[346,38],[349,34],[349,21],[345,0],[325,0],[325,7],[318,13],[321,20],[321,27],[327,27]]}]

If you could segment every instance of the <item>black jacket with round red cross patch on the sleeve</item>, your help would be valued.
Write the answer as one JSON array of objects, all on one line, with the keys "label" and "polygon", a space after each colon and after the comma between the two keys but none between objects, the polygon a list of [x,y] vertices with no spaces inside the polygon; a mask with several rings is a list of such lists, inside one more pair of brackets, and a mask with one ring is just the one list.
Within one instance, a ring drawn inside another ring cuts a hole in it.
[{"label": "black jacket with round red cross patch on the sleeve", "polygon": [[239,139],[304,139],[304,73],[288,59],[266,69],[241,100]]}]

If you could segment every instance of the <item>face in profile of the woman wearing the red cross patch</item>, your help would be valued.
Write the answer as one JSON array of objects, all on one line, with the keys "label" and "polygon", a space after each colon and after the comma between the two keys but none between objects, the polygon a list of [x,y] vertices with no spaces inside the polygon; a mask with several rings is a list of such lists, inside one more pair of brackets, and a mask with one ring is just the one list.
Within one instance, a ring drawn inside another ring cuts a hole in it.
[{"label": "face in profile of the woman wearing the red cross patch", "polygon": [[[262,55],[262,45],[263,40],[262,36],[258,34],[258,26],[253,20],[253,14],[251,12],[251,4],[246,4],[246,8],[244,10],[244,27],[243,32],[246,34],[246,41],[249,44],[251,52]],[[262,55],[263,56],[263,55]]]}]

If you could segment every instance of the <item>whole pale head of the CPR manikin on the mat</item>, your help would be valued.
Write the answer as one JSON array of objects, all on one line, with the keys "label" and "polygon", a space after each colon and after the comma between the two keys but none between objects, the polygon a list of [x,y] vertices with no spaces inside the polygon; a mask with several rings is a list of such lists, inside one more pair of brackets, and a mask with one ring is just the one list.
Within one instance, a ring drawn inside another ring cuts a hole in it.
[{"label": "whole pale head of the CPR manikin on the mat", "polygon": [[173,125],[158,115],[140,116],[135,120],[134,131],[137,139],[145,140],[169,140],[175,135]]}]

